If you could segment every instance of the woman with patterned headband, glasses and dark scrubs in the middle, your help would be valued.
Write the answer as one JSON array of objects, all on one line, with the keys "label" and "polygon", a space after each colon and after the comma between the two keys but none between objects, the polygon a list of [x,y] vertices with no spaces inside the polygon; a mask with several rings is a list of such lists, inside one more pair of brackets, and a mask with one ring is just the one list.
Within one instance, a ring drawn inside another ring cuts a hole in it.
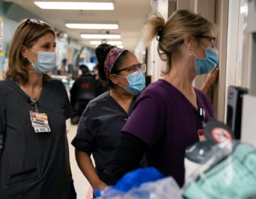
[{"label": "woman with patterned headband, glasses and dark scrubs in the middle", "polygon": [[139,63],[128,50],[108,44],[99,45],[95,53],[100,78],[105,80],[110,91],[87,105],[72,144],[78,166],[92,188],[103,189],[114,182],[111,163],[115,146],[132,112],[136,95],[144,89],[146,65]]}]

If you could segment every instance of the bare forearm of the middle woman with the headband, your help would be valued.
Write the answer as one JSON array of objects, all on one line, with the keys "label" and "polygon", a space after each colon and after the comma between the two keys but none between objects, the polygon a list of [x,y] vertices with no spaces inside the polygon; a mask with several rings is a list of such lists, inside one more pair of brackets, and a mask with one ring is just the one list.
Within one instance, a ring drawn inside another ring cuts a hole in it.
[{"label": "bare forearm of the middle woman with the headband", "polygon": [[84,151],[75,149],[75,158],[78,163],[78,167],[82,171],[85,178],[87,178],[87,181],[89,181],[90,185],[92,185],[93,189],[101,190],[107,186],[107,184],[102,182],[97,175],[89,154],[86,154]]}]

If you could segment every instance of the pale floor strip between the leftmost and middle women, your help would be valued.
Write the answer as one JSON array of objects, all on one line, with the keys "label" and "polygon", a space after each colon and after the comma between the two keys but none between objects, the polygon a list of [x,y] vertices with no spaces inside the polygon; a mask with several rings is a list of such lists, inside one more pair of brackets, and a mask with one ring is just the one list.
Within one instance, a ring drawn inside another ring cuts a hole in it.
[{"label": "pale floor strip between the leftmost and middle women", "polygon": [[70,150],[70,165],[73,173],[75,191],[77,193],[77,199],[89,199],[92,198],[92,188],[88,183],[85,176],[83,176],[78,164],[75,161],[75,148],[70,142],[73,140],[76,131],[78,129],[78,125],[70,124],[70,121],[67,121],[67,129],[68,129],[68,143]]}]

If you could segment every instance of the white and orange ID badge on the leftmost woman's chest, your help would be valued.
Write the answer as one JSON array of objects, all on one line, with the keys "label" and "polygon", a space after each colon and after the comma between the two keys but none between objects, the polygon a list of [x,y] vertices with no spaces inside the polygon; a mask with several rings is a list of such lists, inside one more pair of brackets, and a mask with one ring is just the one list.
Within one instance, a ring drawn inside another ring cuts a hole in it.
[{"label": "white and orange ID badge on the leftmost woman's chest", "polygon": [[31,124],[36,133],[50,132],[48,117],[45,113],[30,111]]}]

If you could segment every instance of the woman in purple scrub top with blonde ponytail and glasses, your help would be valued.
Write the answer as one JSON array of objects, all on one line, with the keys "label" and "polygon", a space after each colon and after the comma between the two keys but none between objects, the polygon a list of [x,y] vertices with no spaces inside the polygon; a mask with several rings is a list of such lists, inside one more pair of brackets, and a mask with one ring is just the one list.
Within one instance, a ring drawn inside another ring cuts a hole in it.
[{"label": "woman in purple scrub top with blonde ponytail and glasses", "polygon": [[185,149],[199,141],[203,123],[213,117],[210,99],[193,87],[196,75],[214,70],[218,63],[213,24],[178,10],[166,22],[160,14],[151,14],[144,31],[146,43],[155,37],[159,41],[159,56],[166,68],[163,78],[137,98],[122,129],[112,172],[121,178],[139,168],[145,155],[148,166],[173,176],[182,186]]}]

